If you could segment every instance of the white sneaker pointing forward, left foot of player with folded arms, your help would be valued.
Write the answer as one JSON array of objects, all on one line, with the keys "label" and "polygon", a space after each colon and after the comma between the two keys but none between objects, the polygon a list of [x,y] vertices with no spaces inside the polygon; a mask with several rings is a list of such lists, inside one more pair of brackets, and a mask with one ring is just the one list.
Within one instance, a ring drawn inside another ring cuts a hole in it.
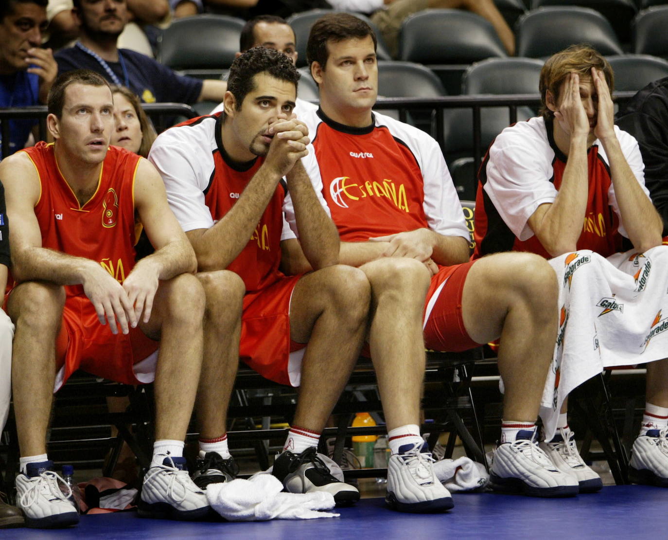
[{"label": "white sneaker pointing forward, left foot of player with folded arms", "polygon": [[434,474],[434,458],[427,443],[404,444],[387,463],[385,503],[399,512],[427,513],[451,509],[450,491]]}]

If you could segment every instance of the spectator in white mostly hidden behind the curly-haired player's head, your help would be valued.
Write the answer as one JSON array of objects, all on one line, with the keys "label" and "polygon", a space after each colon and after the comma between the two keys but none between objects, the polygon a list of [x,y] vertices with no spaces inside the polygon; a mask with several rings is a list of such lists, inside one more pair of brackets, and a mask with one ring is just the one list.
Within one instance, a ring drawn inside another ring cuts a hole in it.
[{"label": "spectator in white mostly hidden behind the curly-haired player's head", "polygon": [[[239,50],[236,57],[246,52],[253,47],[267,47],[268,49],[276,49],[285,54],[293,63],[297,63],[297,38],[292,27],[277,15],[259,15],[248,21],[241,30],[239,37]],[[311,102],[295,100],[295,109],[293,112],[297,118],[303,112],[309,109],[317,109],[317,106]],[[211,114],[224,110],[224,104],[220,103]]]}]

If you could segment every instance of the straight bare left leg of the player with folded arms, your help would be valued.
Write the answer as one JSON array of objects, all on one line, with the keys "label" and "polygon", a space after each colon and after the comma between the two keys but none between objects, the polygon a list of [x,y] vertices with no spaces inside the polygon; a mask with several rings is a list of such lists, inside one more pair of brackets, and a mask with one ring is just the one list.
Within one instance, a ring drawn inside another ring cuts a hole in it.
[{"label": "straight bare left leg of the player with folded arms", "polygon": [[371,283],[369,346],[387,430],[420,424],[425,353],[422,312],[430,273],[415,259],[388,257],[360,267]]}]

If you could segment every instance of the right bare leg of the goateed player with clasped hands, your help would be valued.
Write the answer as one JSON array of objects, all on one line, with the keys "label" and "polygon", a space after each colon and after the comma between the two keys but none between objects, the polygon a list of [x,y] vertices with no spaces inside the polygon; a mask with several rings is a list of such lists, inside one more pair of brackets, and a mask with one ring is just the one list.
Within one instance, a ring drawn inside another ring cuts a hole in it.
[{"label": "right bare leg of the goateed player with clasped hands", "polygon": [[296,425],[323,430],[357,361],[370,294],[365,275],[344,265],[309,273],[295,285],[290,334],[297,343],[308,342],[301,367]]}]

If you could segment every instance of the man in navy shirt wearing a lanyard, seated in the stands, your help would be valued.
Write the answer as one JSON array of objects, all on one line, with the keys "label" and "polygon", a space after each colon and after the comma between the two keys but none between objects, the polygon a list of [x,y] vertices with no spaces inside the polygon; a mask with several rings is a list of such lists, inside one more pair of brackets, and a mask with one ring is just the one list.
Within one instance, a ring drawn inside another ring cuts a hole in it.
[{"label": "man in navy shirt wearing a lanyard, seated in the stands", "polygon": [[74,0],[79,41],[56,53],[59,73],[88,69],[109,82],[127,86],[144,103],[222,101],[226,83],[177,75],[158,61],[118,48],[118,36],[128,22],[126,0]]}]

